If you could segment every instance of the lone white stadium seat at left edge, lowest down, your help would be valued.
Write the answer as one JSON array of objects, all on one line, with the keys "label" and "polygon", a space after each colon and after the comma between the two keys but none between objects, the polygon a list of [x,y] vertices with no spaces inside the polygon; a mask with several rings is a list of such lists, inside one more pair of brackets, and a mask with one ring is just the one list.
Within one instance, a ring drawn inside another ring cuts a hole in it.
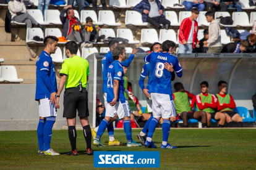
[{"label": "lone white stadium seat at left edge, lowest down", "polygon": [[18,78],[17,70],[13,65],[2,65],[0,78],[13,83],[23,82],[22,78]]}]

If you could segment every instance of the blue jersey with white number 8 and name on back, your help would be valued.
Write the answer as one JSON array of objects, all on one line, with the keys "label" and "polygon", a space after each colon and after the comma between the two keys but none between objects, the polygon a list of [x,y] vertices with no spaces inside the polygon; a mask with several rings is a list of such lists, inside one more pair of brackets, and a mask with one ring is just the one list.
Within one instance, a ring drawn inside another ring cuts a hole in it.
[{"label": "blue jersey with white number 8 and name on back", "polygon": [[144,60],[145,62],[150,62],[150,92],[169,94],[172,98],[171,73],[164,68],[164,63],[172,63],[174,71],[176,73],[182,73],[182,68],[177,57],[168,52],[152,52]]}]

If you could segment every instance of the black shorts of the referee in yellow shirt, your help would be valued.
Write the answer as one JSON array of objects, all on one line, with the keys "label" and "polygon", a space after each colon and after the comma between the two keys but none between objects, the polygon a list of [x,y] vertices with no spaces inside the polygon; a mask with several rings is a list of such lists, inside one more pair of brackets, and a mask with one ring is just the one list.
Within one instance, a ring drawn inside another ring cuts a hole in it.
[{"label": "black shorts of the referee in yellow shirt", "polygon": [[79,92],[79,87],[68,88],[64,93],[64,118],[75,118],[78,111],[78,116],[85,118],[89,116],[88,110],[88,92],[83,88]]}]

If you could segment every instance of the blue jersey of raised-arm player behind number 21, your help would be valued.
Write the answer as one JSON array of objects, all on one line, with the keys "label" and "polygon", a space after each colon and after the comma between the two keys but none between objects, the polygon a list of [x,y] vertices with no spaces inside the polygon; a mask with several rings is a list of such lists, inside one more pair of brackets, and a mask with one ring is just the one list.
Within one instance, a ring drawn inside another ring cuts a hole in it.
[{"label": "blue jersey of raised-arm player behind number 21", "polygon": [[[134,55],[130,54],[130,57],[122,62],[122,65],[124,67],[129,67],[130,63],[134,59]],[[108,67],[111,63],[114,62],[112,52],[108,52],[103,59],[101,60],[101,69],[102,69],[102,78],[103,78],[103,86],[102,86],[102,92],[107,92],[107,82],[108,82]]]}]

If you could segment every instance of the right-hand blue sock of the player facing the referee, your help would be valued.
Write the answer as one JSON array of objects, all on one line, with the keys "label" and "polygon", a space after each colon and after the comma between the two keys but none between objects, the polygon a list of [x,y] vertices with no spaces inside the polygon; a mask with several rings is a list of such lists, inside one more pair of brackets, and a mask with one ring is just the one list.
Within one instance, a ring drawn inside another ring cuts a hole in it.
[{"label": "right-hand blue sock of the player facing the referee", "polygon": [[45,150],[48,150],[51,143],[51,134],[53,133],[53,124],[55,123],[55,117],[46,118],[45,128],[43,129],[43,139],[45,140]]}]

